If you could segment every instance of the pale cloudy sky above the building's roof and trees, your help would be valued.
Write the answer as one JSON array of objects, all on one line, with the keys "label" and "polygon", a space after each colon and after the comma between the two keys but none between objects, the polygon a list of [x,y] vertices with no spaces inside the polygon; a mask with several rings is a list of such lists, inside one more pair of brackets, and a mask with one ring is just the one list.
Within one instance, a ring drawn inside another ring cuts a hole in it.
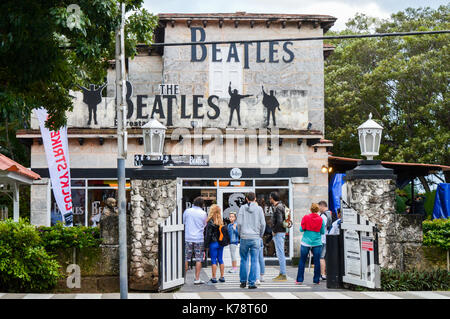
[{"label": "pale cloudy sky above the building's roof and trees", "polygon": [[144,7],[157,13],[298,13],[328,14],[338,20],[333,30],[341,30],[356,13],[387,18],[408,7],[438,8],[445,0],[144,0]]}]

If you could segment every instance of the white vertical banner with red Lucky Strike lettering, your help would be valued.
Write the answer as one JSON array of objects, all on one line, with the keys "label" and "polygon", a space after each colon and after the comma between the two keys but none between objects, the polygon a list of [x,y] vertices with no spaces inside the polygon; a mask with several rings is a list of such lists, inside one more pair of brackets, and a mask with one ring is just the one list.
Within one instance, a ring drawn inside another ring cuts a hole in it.
[{"label": "white vertical banner with red Lucky Strike lettering", "polygon": [[73,226],[67,127],[50,131],[45,127],[45,121],[48,118],[47,110],[41,107],[34,109],[34,112],[39,120],[56,204],[61,211],[65,226]]}]

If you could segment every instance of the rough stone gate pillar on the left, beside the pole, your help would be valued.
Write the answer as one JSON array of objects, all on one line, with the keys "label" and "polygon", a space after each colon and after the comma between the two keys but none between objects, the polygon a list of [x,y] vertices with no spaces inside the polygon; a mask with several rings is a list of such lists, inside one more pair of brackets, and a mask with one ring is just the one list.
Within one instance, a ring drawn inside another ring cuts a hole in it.
[{"label": "rough stone gate pillar on the left, beside the pole", "polygon": [[158,225],[176,209],[175,180],[131,181],[129,287],[158,289]]}]

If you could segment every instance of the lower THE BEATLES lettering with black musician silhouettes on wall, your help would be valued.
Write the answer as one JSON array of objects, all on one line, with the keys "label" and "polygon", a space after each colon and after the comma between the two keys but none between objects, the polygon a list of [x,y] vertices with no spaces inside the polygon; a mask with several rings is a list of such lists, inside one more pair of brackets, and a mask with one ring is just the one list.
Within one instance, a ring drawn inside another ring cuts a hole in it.
[{"label": "lower THE BEATLES lettering with black musician silhouettes on wall", "polygon": [[[94,123],[97,125],[97,106],[102,102],[102,90],[105,88],[106,83],[102,86],[96,87],[94,84],[89,85],[89,89],[79,86],[83,92],[83,102],[87,104],[89,111],[89,120],[87,125],[91,125],[92,117],[94,118]],[[166,119],[167,126],[173,126],[173,107],[174,103],[180,103],[180,119],[204,119],[205,116],[210,120],[215,120],[220,116],[219,108],[219,97],[217,95],[210,95],[207,99],[207,105],[210,108],[206,113],[200,114],[200,110],[203,108],[203,95],[192,95],[192,110],[187,110],[186,95],[179,95],[179,86],[177,84],[160,84],[160,94],[155,95],[153,101],[153,107],[151,112],[144,114],[144,109],[147,108],[146,99],[148,95],[138,94],[136,96],[136,108],[134,106],[133,100],[131,99],[133,95],[133,86],[129,81],[126,81],[127,93],[126,93],[126,103],[127,103],[127,119],[133,117],[134,111],[136,111],[136,122],[139,125],[144,125],[149,118],[154,118],[155,115],[159,119]],[[274,91],[270,90],[270,94],[264,91],[264,86],[262,86],[262,104],[263,107],[267,109],[266,126],[269,126],[270,117],[272,117],[273,126],[276,126],[275,112],[280,109],[280,103],[275,97]],[[228,101],[228,107],[230,108],[230,117],[228,121],[228,126],[231,126],[233,122],[233,116],[236,113],[238,125],[241,126],[241,116],[240,107],[241,100],[250,96],[251,94],[242,95],[239,94],[237,89],[232,89],[232,83],[230,82],[228,86],[228,94],[230,99]],[[164,103],[165,102],[165,103]],[[163,107],[166,104],[166,108]],[[164,111],[166,109],[166,112]],[[114,125],[117,125],[117,114],[114,120]],[[133,126],[133,125],[131,125]]]}]

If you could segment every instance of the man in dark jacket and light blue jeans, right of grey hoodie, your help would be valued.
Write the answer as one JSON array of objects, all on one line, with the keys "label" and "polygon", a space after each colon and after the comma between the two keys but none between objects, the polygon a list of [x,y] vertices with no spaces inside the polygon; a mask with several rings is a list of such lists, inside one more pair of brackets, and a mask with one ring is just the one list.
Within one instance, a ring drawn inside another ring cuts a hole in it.
[{"label": "man in dark jacket and light blue jeans, right of grey hoodie", "polygon": [[270,204],[272,205],[272,231],[275,251],[280,264],[280,274],[273,278],[275,281],[286,281],[286,256],[284,253],[284,241],[286,238],[286,228],[283,225],[285,207],[280,201],[278,192],[270,193]]}]

